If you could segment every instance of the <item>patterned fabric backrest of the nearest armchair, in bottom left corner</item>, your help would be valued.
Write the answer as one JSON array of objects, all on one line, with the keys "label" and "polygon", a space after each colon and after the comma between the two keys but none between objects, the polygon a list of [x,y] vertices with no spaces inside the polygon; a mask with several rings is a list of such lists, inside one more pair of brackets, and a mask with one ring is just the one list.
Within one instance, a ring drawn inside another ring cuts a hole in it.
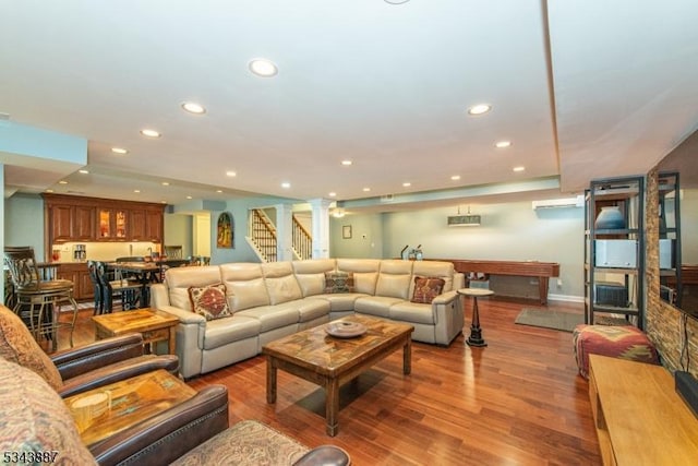
[{"label": "patterned fabric backrest of the nearest armchair, in bottom left corner", "polygon": [[0,360],[0,451],[16,452],[17,461],[9,457],[12,464],[97,464],[58,393],[33,371],[4,360]]}]

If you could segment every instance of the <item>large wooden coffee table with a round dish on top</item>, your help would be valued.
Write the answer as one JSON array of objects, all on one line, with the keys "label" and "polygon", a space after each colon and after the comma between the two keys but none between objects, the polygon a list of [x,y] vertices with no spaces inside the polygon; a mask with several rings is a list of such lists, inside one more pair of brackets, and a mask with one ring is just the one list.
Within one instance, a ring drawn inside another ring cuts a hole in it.
[{"label": "large wooden coffee table with a round dish on top", "polygon": [[359,322],[368,332],[356,338],[327,335],[325,325],[289,335],[265,345],[266,401],[276,403],[276,371],[281,369],[325,389],[327,434],[339,431],[339,387],[377,361],[402,348],[402,373],[411,371],[412,325],[363,315],[342,321]]}]

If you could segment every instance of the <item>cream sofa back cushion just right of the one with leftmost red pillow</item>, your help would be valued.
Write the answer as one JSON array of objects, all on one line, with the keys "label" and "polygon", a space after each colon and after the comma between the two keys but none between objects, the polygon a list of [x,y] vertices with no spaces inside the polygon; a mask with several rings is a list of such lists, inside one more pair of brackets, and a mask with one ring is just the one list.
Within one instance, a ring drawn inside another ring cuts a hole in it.
[{"label": "cream sofa back cushion just right of the one with leftmost red pillow", "polygon": [[220,278],[232,312],[244,309],[269,306],[269,294],[264,283],[262,264],[240,262],[222,264]]}]

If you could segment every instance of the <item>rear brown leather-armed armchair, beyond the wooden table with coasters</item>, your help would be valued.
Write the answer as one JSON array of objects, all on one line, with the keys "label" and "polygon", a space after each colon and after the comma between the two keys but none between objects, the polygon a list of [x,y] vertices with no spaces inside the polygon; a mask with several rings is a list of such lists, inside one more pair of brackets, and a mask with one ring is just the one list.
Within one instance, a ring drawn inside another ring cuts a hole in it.
[{"label": "rear brown leather-armed armchair, beyond the wooden table with coasters", "polygon": [[38,373],[62,397],[145,372],[179,369],[174,355],[144,355],[141,334],[101,339],[47,356],[22,320],[0,304],[0,357]]}]

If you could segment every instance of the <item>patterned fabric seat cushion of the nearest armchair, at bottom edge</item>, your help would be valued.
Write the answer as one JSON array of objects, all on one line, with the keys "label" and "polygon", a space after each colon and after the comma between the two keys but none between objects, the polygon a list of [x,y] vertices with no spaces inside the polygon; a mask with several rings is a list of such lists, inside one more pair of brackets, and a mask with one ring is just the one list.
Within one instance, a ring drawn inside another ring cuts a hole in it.
[{"label": "patterned fabric seat cushion of the nearest armchair, at bottom edge", "polygon": [[292,465],[309,449],[254,420],[236,423],[177,459],[172,465]]}]

